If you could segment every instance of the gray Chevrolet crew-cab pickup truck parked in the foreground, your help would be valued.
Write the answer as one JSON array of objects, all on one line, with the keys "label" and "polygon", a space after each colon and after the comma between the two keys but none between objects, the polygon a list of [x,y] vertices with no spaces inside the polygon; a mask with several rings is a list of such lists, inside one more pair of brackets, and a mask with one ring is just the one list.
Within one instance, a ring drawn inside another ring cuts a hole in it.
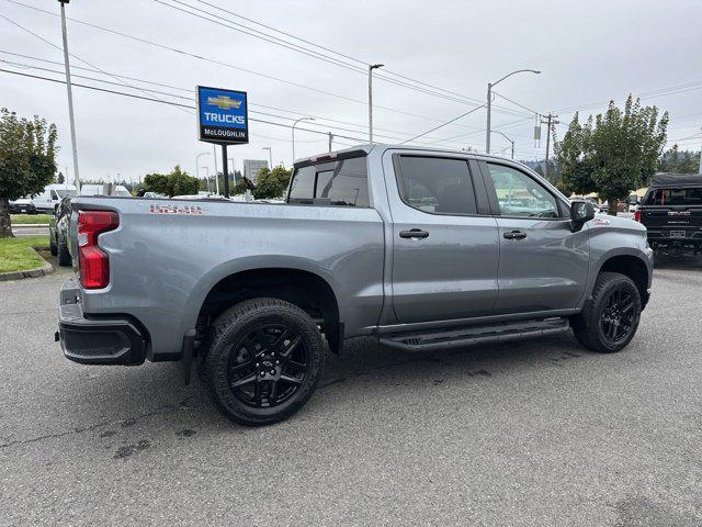
[{"label": "gray Chevrolet crew-cab pickup truck parked in the foreground", "polygon": [[641,224],[570,203],[524,166],[367,145],[299,160],[286,203],[78,198],[60,292],[66,357],[191,363],[233,421],[312,396],[328,350],[553,335],[629,344],[648,301]]}]

